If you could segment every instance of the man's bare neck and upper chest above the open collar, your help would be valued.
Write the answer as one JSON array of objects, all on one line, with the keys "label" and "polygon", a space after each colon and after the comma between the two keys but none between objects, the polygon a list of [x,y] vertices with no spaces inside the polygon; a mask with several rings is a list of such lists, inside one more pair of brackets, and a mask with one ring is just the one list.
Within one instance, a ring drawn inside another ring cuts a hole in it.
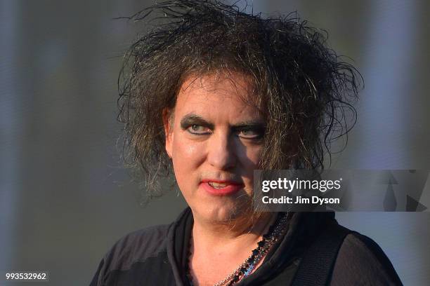
[{"label": "man's bare neck and upper chest above the open collar", "polygon": [[249,217],[228,224],[214,224],[195,217],[188,257],[194,285],[214,285],[228,278],[256,249],[263,234],[275,222],[277,213],[266,212],[254,219]]}]

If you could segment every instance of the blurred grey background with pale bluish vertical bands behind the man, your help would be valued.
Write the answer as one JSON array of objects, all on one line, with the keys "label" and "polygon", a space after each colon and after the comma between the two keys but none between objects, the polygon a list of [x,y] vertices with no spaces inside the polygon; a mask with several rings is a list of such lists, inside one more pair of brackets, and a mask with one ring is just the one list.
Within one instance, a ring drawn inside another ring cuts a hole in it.
[{"label": "blurred grey background with pale bluish vertical bands behind the man", "polygon": [[[0,271],[88,285],[117,239],[185,207],[176,191],[142,206],[116,147],[121,55],[143,27],[112,18],[152,3],[0,0]],[[332,168],[430,169],[429,3],[254,1],[254,13],[298,11],[327,29],[363,74]],[[429,212],[337,217],[377,241],[405,285],[430,284]]]}]

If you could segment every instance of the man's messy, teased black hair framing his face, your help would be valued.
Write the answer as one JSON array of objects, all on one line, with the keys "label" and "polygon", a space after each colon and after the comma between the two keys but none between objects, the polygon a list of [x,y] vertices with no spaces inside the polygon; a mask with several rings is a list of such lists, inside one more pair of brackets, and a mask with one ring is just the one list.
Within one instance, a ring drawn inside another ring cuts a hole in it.
[{"label": "man's messy, teased black hair framing his face", "polygon": [[[129,19],[151,27],[124,57],[119,121],[124,158],[145,175],[148,195],[171,173],[162,112],[188,76],[245,74],[266,117],[261,169],[322,170],[330,142],[356,121],[358,71],[327,47],[327,34],[297,13],[275,18],[221,1],[163,1]],[[350,124],[351,123],[351,124]]]}]

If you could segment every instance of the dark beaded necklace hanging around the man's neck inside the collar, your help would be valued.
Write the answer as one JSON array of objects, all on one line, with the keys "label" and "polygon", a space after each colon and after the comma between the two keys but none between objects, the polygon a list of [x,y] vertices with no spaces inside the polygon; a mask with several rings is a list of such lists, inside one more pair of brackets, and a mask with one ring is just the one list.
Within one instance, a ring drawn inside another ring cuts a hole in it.
[{"label": "dark beaded necklace hanging around the man's neck inside the collar", "polygon": [[[266,257],[266,254],[271,247],[278,242],[278,240],[285,234],[287,228],[285,227],[289,221],[288,212],[278,214],[278,217],[274,224],[268,229],[268,232],[263,235],[261,240],[257,243],[257,247],[252,250],[251,255],[245,261],[242,262],[235,270],[230,273],[223,280],[216,282],[214,286],[232,286],[235,285],[236,282],[241,280],[242,278],[247,277],[247,275],[251,274],[254,271],[254,268],[260,263],[263,257]],[[191,243],[191,240],[190,240]],[[188,260],[190,259],[190,254],[188,255]],[[190,285],[194,285],[193,283],[193,275],[190,273],[190,261],[188,261],[185,269],[185,273],[188,278],[188,282]]]}]

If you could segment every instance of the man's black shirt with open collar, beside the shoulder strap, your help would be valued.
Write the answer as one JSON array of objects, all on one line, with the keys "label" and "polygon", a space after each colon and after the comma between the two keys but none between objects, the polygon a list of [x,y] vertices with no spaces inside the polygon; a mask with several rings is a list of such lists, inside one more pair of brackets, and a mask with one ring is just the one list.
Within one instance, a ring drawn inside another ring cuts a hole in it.
[{"label": "man's black shirt with open collar, beside the shoulder strap", "polygon": [[[285,236],[251,275],[237,285],[290,285],[301,255],[333,223],[333,212],[297,212]],[[188,286],[185,265],[193,214],[184,210],[170,225],[152,226],[124,236],[107,252],[91,286]],[[359,233],[346,236],[330,285],[401,285],[391,262],[373,240]]]}]

